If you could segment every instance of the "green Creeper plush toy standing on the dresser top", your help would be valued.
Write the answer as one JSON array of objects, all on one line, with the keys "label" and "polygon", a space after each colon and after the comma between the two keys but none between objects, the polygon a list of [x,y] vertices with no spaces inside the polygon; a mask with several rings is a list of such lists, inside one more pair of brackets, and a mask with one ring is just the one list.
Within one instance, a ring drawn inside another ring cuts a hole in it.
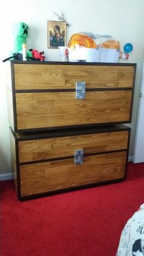
[{"label": "green Creeper plush toy standing on the dresser top", "polygon": [[[29,27],[26,23],[19,22],[13,24],[13,36],[14,36],[14,53],[22,53],[23,43],[27,43]],[[32,57],[31,51],[27,51],[27,56]]]}]

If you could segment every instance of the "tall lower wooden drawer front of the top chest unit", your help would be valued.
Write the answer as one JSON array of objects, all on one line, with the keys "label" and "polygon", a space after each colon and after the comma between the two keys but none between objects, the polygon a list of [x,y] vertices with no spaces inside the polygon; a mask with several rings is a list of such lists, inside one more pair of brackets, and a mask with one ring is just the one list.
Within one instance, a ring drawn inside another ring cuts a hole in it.
[{"label": "tall lower wooden drawer front of the top chest unit", "polygon": [[129,122],[132,91],[16,93],[18,130]]}]

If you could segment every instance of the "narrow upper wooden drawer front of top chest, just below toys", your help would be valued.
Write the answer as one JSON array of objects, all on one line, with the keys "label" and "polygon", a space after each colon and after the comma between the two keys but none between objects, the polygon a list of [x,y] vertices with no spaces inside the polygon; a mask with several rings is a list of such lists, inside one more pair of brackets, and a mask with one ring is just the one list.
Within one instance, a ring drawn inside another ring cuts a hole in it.
[{"label": "narrow upper wooden drawer front of top chest, just below toys", "polygon": [[15,89],[132,88],[134,66],[14,64]]}]

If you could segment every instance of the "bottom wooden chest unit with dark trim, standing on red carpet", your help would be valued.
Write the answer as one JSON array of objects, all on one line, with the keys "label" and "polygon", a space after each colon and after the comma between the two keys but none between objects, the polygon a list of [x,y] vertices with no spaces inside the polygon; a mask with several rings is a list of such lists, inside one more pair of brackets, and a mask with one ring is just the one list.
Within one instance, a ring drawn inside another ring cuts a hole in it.
[{"label": "bottom wooden chest unit with dark trim, standing on red carpet", "polygon": [[123,180],[129,135],[123,125],[29,134],[10,129],[18,199]]}]

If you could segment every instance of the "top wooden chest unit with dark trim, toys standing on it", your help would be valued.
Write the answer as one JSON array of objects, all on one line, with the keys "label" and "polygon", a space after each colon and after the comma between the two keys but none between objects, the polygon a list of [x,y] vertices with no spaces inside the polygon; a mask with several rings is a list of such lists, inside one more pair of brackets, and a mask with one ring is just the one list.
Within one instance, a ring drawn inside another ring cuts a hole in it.
[{"label": "top wooden chest unit with dark trim, toys standing on it", "polygon": [[10,63],[14,132],[131,122],[136,64]]}]

